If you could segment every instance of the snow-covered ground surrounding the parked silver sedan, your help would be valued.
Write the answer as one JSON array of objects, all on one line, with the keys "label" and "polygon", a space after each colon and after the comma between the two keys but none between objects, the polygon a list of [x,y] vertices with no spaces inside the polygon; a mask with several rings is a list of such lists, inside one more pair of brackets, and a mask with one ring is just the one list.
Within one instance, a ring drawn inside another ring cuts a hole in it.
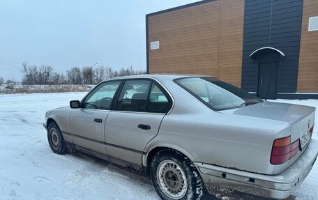
[{"label": "snow-covered ground surrounding the parked silver sedan", "polygon": [[[56,155],[42,126],[45,111],[85,93],[0,95],[0,199],[159,199],[149,178],[82,154]],[[318,109],[318,100],[277,100]],[[318,139],[318,116],[313,137]],[[318,164],[296,199],[318,199]],[[213,199],[207,195],[205,199]]]}]

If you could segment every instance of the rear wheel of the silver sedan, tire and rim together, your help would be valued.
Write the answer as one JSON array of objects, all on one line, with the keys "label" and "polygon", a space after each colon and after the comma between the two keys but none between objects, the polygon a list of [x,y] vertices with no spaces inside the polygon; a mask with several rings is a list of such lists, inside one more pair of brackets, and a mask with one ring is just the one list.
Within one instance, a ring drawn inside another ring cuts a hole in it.
[{"label": "rear wheel of the silver sedan, tire and rim together", "polygon": [[176,151],[159,151],[151,162],[151,180],[164,200],[199,200],[204,185],[188,157]]}]

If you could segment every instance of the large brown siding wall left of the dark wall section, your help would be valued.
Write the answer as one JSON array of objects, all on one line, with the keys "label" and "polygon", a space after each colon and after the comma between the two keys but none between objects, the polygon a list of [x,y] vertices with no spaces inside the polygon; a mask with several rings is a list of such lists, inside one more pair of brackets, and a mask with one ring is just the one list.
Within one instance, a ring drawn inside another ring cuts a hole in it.
[{"label": "large brown siding wall left of the dark wall section", "polygon": [[[149,16],[149,72],[213,75],[241,86],[243,18],[243,0]],[[150,49],[153,41],[160,49]]]}]

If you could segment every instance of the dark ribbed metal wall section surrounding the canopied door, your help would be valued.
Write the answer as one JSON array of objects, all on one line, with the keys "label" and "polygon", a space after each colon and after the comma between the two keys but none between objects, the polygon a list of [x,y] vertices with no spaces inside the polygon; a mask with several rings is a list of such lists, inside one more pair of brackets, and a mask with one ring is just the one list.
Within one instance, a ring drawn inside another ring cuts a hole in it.
[{"label": "dark ribbed metal wall section surrounding the canopied door", "polygon": [[[257,92],[258,62],[250,54],[274,47],[285,54],[278,67],[278,93],[295,93],[303,0],[245,0],[241,88]],[[264,60],[268,56],[264,56]]]}]

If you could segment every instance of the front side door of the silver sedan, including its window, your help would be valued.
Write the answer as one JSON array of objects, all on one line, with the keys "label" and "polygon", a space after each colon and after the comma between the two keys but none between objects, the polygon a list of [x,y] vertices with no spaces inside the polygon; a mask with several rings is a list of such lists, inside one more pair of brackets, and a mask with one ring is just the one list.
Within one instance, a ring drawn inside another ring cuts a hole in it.
[{"label": "front side door of the silver sedan, including its window", "polygon": [[70,137],[74,144],[107,154],[104,128],[113,98],[121,81],[96,86],[81,102],[81,108],[70,113]]}]

